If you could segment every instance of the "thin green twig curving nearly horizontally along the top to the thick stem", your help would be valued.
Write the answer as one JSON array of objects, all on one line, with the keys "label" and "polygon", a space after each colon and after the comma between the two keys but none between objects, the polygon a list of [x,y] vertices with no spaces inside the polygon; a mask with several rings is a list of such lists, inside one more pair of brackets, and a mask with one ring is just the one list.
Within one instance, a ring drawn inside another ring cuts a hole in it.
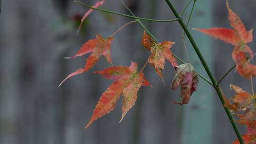
[{"label": "thin green twig curving nearly horizontally along the top to the thick stem", "polygon": [[103,11],[103,12],[107,12],[107,13],[111,13],[111,14],[115,14],[115,15],[119,15],[119,16],[123,16],[123,17],[128,17],[128,18],[135,18],[135,19],[140,19],[140,20],[146,20],[146,21],[155,21],[155,22],[172,22],[172,21],[178,21],[178,19],[167,19],[167,20],[159,20],[159,19],[150,19],[150,18],[140,18],[140,17],[135,17],[135,16],[131,16],[131,15],[127,15],[127,14],[123,14],[123,13],[118,13],[118,12],[114,12],[114,11],[110,11],[110,10],[105,10],[105,9],[98,9],[98,8],[93,8],[92,6],[85,4],[83,2],[80,1],[76,1],[74,0],[74,2],[79,3],[85,7],[91,8],[91,9],[95,9],[98,11]]}]

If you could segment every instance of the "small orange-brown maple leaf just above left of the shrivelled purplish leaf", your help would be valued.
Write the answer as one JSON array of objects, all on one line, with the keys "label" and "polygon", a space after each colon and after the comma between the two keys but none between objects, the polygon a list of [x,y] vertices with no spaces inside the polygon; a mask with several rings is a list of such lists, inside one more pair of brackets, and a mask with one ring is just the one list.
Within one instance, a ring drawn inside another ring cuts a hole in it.
[{"label": "small orange-brown maple leaf just above left of the shrivelled purplish leaf", "polygon": [[177,65],[176,60],[170,51],[170,48],[174,45],[174,42],[165,41],[156,44],[152,37],[147,35],[146,31],[144,31],[141,43],[152,53],[148,58],[148,62],[155,67],[155,71],[161,78],[163,76],[163,69],[165,67],[165,59],[168,60],[173,67]]}]

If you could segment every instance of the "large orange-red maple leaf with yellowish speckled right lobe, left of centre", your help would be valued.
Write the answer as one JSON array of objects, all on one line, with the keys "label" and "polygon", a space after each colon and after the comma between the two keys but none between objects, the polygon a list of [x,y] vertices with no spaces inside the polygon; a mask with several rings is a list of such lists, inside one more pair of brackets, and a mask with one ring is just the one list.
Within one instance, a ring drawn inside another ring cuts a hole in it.
[{"label": "large orange-red maple leaf with yellowish speckled right lobe, left of centre", "polygon": [[116,81],[102,93],[101,98],[93,111],[91,120],[85,128],[90,126],[98,118],[110,113],[116,107],[117,101],[123,93],[123,114],[120,120],[122,121],[128,110],[135,105],[139,88],[141,86],[151,86],[144,74],[142,72],[137,72],[137,63],[133,62],[129,67],[114,66],[94,73],[101,74],[107,79]]}]

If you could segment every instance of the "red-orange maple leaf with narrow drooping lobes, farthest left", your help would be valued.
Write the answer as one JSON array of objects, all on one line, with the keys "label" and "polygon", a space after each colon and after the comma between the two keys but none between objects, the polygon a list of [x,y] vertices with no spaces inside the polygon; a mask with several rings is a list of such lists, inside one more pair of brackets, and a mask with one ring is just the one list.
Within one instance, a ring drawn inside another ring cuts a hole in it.
[{"label": "red-orange maple leaf with narrow drooping lobes, farthest left", "polygon": [[[84,43],[81,49],[72,57],[66,57],[66,58],[75,58],[77,56],[82,56],[84,54],[92,53],[87,59],[86,64],[84,68],[80,68],[76,70],[75,72],[72,72],[69,74],[61,83],[60,85],[66,81],[67,79],[73,77],[74,75],[81,74],[83,72],[87,72],[90,70],[100,59],[101,55],[104,55],[106,57],[106,60],[112,64],[111,60],[111,46],[110,43],[114,39],[112,37],[108,37],[104,39],[100,35],[97,35],[96,39],[91,39],[88,42]],[[59,85],[59,86],[60,86]]]}]

